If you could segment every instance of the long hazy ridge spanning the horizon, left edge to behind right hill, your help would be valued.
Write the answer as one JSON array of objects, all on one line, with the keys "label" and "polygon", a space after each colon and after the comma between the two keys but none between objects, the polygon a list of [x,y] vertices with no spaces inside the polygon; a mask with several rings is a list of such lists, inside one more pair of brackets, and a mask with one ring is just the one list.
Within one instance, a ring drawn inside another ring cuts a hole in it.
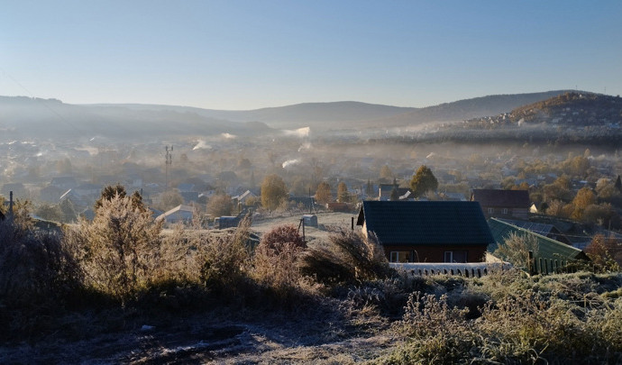
[{"label": "long hazy ridge spanning the horizon, left edge to behind right hill", "polygon": [[[567,90],[481,96],[424,108],[354,101],[303,103],[248,111],[174,105],[69,105],[57,99],[0,96],[0,131],[7,138],[34,136],[77,138],[102,135],[122,140],[219,133],[249,137],[275,130],[310,127],[313,135],[335,130],[410,126],[462,121],[508,113]],[[586,93],[588,94],[588,93]]]}]

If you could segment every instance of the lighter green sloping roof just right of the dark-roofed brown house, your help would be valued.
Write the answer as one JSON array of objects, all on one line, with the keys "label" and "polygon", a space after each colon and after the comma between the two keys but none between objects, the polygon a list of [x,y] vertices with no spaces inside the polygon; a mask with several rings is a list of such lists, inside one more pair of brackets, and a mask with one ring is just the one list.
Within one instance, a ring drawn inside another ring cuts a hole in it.
[{"label": "lighter green sloping roof just right of the dark-roofed brown house", "polygon": [[502,222],[499,219],[490,218],[488,221],[490,226],[490,232],[495,238],[495,243],[489,245],[488,251],[494,253],[499,247],[499,244],[503,244],[511,233],[517,233],[519,235],[530,235],[538,241],[538,251],[535,252],[535,258],[550,259],[550,260],[572,260],[580,259],[585,260],[587,256],[579,249],[572,247],[569,244],[555,241],[551,238],[545,237],[538,233],[533,233],[524,228],[517,227],[514,224],[508,224]]}]

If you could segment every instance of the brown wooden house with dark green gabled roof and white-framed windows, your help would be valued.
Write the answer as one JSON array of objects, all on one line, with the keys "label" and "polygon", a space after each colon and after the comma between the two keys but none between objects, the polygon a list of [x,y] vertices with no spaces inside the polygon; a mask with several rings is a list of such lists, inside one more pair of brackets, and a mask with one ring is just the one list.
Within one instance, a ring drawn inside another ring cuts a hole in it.
[{"label": "brown wooden house with dark green gabled roof and white-framed windows", "polygon": [[390,262],[481,262],[495,242],[478,202],[364,201],[357,225]]}]

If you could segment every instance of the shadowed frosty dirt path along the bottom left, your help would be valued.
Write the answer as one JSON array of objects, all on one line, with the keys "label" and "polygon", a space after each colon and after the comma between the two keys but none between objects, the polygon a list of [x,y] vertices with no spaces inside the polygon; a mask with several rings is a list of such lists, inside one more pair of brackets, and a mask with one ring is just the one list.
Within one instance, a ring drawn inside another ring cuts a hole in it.
[{"label": "shadowed frosty dirt path along the bottom left", "polygon": [[[347,326],[346,326],[347,327]],[[82,342],[0,348],[1,363],[24,364],[275,364],[358,363],[397,344],[388,326],[371,333],[343,323],[212,323],[201,316],[166,327],[141,327]]]}]

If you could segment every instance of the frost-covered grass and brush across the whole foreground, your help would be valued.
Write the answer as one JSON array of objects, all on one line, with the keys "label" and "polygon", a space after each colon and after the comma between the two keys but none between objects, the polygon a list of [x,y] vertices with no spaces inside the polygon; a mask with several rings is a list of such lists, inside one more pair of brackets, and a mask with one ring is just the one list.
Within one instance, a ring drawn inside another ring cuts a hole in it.
[{"label": "frost-covered grass and brush across the whole foreground", "polygon": [[305,247],[275,227],[257,245],[248,224],[179,226],[128,257],[123,224],[96,222],[112,225],[0,226],[0,362],[622,362],[620,273],[413,277],[348,229]]}]

